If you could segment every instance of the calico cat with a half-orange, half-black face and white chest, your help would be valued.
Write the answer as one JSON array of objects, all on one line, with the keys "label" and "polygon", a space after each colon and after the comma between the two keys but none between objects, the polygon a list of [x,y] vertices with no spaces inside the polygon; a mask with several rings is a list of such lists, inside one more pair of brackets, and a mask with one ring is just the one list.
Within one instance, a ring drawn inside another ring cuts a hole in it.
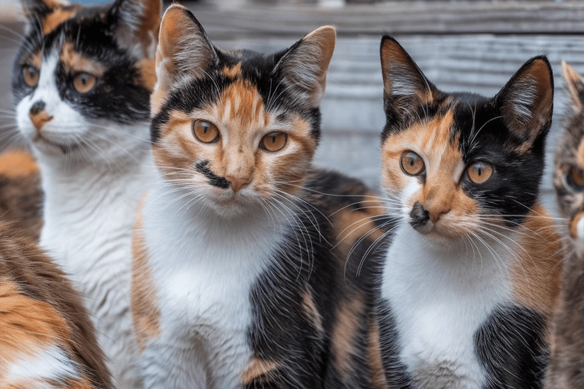
[{"label": "calico cat with a half-orange, half-black face and white chest", "polygon": [[558,236],[538,201],[553,76],[527,61],[491,99],[445,93],[381,40],[382,182],[400,216],[385,257],[390,388],[538,388],[559,293]]}]

